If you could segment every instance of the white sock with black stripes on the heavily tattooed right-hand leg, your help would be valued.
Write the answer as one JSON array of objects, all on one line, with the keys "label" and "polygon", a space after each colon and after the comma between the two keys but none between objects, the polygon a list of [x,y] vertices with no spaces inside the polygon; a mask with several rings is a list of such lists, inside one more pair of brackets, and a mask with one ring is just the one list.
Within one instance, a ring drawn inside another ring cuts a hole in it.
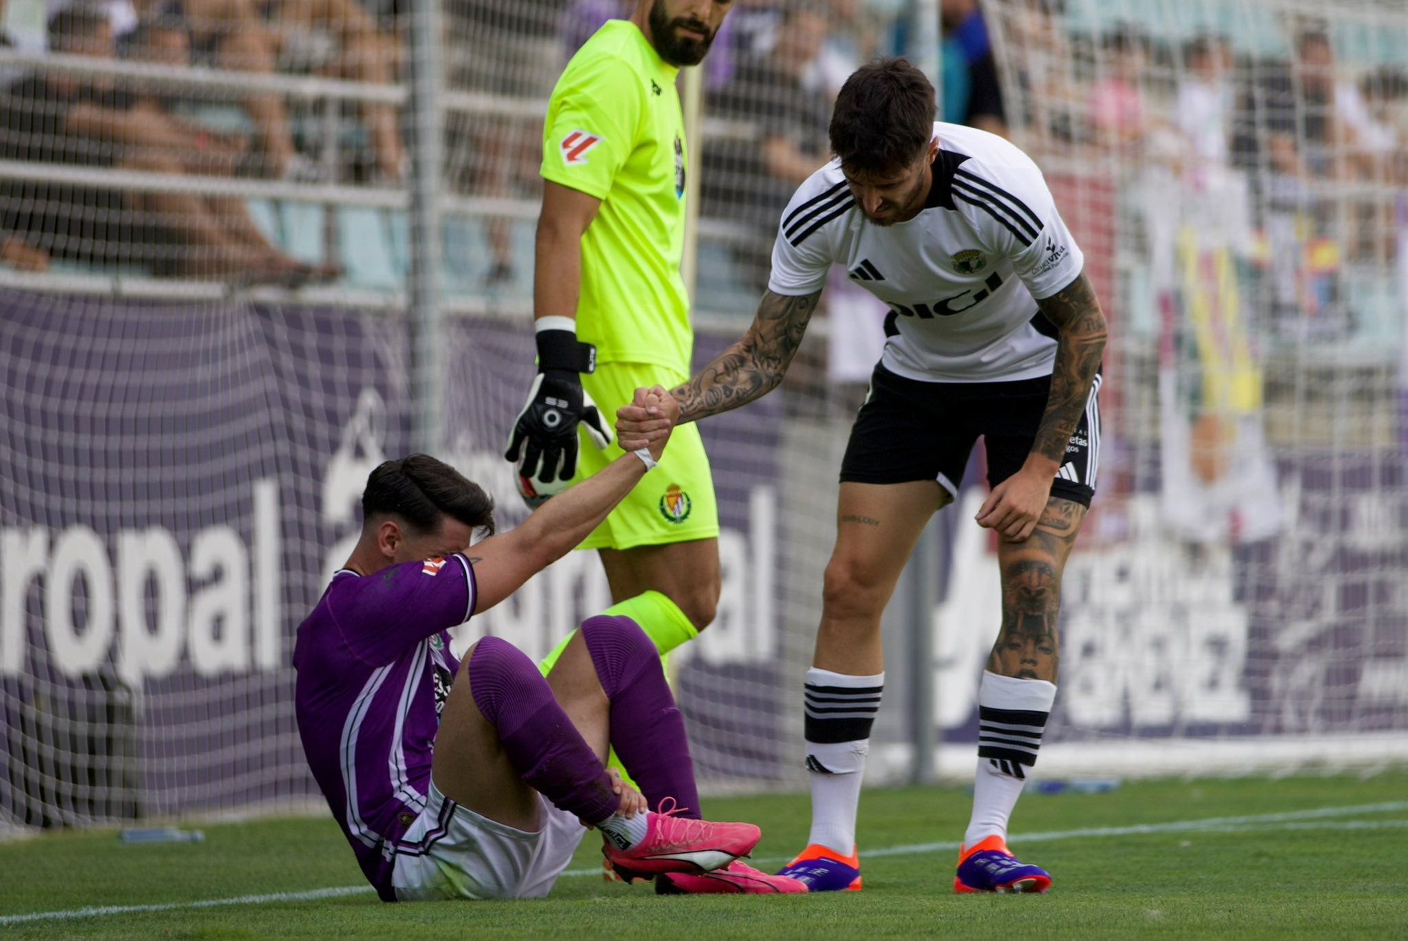
[{"label": "white sock with black stripes on the heavily tattooed right-hand leg", "polygon": [[1036,764],[1046,717],[1056,702],[1056,685],[1043,679],[1017,679],[983,671],[977,690],[977,776],[973,780],[973,816],[963,845],[1000,835],[1007,841],[1007,821],[1026,783],[1026,769]]}]

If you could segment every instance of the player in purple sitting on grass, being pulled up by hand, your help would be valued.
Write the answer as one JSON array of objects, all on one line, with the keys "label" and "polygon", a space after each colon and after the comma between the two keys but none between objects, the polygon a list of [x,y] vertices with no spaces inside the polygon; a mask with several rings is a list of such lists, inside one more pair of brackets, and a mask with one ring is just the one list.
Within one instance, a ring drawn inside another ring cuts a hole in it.
[{"label": "player in purple sitting on grass, being pulled up by hand", "polygon": [[[546,678],[497,637],[463,661],[449,649],[448,628],[566,555],[655,466],[677,410],[663,389],[636,401],[659,442],[501,535],[493,500],[435,458],[367,479],[362,537],[298,627],[293,663],[313,776],[383,900],[545,896],[583,825],[625,879],[703,873],[758,842],[752,824],[674,816],[698,806],[694,771],[635,621],[589,618]],[[470,549],[476,530],[490,535]],[[608,744],[643,796],[607,772]]]}]

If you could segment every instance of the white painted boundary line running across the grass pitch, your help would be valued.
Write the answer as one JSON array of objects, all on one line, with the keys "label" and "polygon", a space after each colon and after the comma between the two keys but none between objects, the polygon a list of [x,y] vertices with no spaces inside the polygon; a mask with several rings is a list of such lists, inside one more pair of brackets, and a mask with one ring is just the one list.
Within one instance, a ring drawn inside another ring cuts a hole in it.
[{"label": "white painted boundary line running across the grass pitch", "polygon": [[[1045,842],[1052,840],[1076,840],[1081,837],[1132,837],[1140,834],[1159,833],[1238,833],[1243,830],[1316,830],[1316,828],[1346,828],[1346,830],[1378,830],[1408,827],[1408,820],[1328,820],[1331,817],[1349,817],[1364,813],[1391,813],[1408,810],[1408,802],[1394,800],[1378,804],[1359,804],[1357,807],[1316,807],[1314,810],[1291,810],[1276,814],[1255,814],[1249,817],[1205,817],[1202,820],[1174,820],[1162,824],[1132,824],[1129,827],[1088,827],[1083,830],[1053,830],[1048,833],[1029,833],[1012,835],[1012,842]],[[1278,824],[1278,825],[1277,825]],[[883,847],[867,849],[866,858],[872,856],[904,856],[925,852],[939,852],[957,849],[955,841],[921,842],[903,847]],[[759,859],[758,862],[773,864],[786,862],[786,856],[773,859]],[[567,869],[563,876],[598,876],[601,869]],[[0,916],[0,926],[23,924],[25,921],[56,921],[66,918],[92,918],[104,914],[137,914],[144,911],[179,911],[184,909],[214,909],[234,904],[268,904],[272,902],[317,902],[320,899],[338,899],[342,896],[366,895],[372,886],[339,886],[334,889],[310,889],[307,892],[270,892],[256,896],[237,896],[234,899],[203,899],[199,902],[163,902],[153,904],[113,904],[90,906],[86,909],[65,909],[59,911],[32,911],[28,914]]]}]

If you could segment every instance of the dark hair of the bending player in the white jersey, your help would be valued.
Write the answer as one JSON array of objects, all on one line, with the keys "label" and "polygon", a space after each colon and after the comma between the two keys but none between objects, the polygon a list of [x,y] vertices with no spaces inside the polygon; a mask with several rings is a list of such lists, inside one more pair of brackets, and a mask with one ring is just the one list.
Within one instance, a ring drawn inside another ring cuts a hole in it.
[{"label": "dark hair of the bending player in the white jersey", "polygon": [[934,86],[924,72],[908,59],[876,59],[841,86],[831,149],[848,170],[900,170],[934,138]]}]

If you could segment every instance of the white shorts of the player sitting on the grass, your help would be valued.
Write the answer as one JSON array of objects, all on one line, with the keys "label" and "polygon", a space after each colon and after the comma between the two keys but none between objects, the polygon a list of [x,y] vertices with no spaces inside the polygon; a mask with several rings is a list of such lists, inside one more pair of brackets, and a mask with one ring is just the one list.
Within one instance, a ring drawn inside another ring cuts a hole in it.
[{"label": "white shorts of the player sitting on the grass", "polygon": [[391,872],[396,897],[418,902],[548,895],[587,828],[542,794],[538,800],[542,830],[528,833],[460,807],[432,780],[425,810],[397,841]]}]

